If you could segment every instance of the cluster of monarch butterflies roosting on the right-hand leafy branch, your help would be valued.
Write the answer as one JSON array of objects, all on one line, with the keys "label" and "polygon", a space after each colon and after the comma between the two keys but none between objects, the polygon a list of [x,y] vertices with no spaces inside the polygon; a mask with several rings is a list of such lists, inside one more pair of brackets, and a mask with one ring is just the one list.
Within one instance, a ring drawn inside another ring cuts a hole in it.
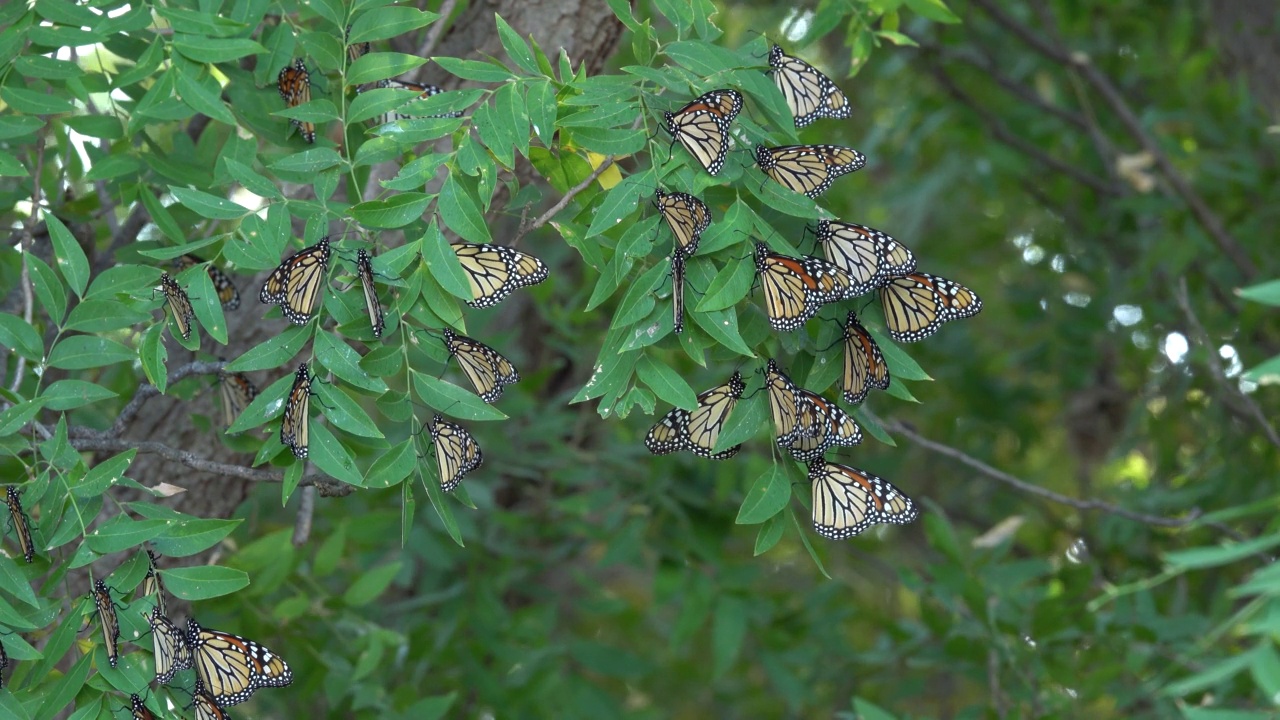
[{"label": "cluster of monarch butterflies roosting on the right-hand leafy branch", "polygon": [[[819,118],[847,118],[851,105],[827,76],[774,45],[769,72],[786,99],[797,128]],[[684,146],[712,176],[728,155],[731,124],[742,110],[736,90],[713,90],[676,111],[663,114],[672,142]],[[787,190],[818,197],[832,182],[861,169],[867,159],[851,147],[790,145],[755,147],[755,164],[767,178]],[[675,237],[672,249],[672,305],[675,331],[684,328],[685,264],[696,251],[701,233],[712,223],[710,209],[686,192],[659,190],[658,213]],[[877,292],[884,325],[897,342],[915,342],[943,323],[977,315],[982,300],[954,281],[916,270],[915,255],[893,237],[867,225],[835,219],[815,228],[823,256],[794,258],[755,243],[754,264],[764,296],[769,325],[780,332],[803,328],[819,310],[865,293]],[[872,334],[855,311],[844,327],[842,397],[860,404],[872,388],[890,386],[888,366]],[[858,445],[861,429],[835,401],[797,387],[769,360],[763,368],[764,388],[780,448],[808,465],[813,489],[813,525],[828,538],[856,536],[877,523],[910,523],[915,502],[902,491],[870,473],[826,460],[835,446]],[[746,391],[740,372],[724,384],[698,396],[694,410],[673,409],[645,437],[650,452],[690,451],[724,460],[741,446],[716,451],[721,430],[735,404]]]}]

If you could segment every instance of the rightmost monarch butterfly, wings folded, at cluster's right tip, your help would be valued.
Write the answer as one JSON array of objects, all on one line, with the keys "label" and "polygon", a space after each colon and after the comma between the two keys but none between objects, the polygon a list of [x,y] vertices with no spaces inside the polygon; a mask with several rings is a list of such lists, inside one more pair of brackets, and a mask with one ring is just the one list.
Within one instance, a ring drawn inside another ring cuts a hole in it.
[{"label": "rightmost monarch butterfly, wings folded, at cluster's right tip", "polygon": [[936,333],[942,323],[972,318],[982,311],[982,299],[965,286],[911,273],[881,286],[884,325],[897,342],[915,342]]}]

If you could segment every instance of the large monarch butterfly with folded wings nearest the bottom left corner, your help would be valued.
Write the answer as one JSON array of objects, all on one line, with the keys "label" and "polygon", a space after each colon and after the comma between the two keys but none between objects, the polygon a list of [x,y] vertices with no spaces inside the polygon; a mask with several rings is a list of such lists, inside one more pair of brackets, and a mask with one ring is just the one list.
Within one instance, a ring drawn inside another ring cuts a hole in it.
[{"label": "large monarch butterfly with folded wings nearest the bottom left corner", "polygon": [[206,630],[187,619],[187,647],[202,689],[219,707],[239,705],[259,688],[283,688],[293,682],[284,659],[256,642]]}]

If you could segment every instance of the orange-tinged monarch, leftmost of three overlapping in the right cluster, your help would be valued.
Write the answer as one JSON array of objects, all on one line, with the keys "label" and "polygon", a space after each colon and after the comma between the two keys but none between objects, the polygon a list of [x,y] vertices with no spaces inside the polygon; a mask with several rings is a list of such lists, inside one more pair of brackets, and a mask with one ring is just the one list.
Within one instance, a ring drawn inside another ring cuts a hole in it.
[{"label": "orange-tinged monarch, leftmost of three overlapping in the right cluster", "polygon": [[778,255],[755,243],[755,272],[764,287],[764,311],[777,331],[794,331],[852,286],[849,273],[818,258]]}]

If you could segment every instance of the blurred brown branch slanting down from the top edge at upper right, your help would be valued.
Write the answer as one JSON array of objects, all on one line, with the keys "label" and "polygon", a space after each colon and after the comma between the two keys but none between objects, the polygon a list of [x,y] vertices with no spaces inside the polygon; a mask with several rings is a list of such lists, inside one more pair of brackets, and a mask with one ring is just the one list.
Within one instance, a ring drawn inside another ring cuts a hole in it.
[{"label": "blurred brown branch slanting down from the top edge at upper right", "polygon": [[1174,188],[1174,192],[1187,202],[1190,208],[1192,215],[1196,220],[1204,228],[1204,231],[1213,238],[1219,249],[1230,258],[1235,268],[1244,275],[1245,279],[1252,279],[1257,275],[1258,270],[1249,260],[1249,256],[1236,242],[1235,237],[1228,232],[1226,225],[1222,219],[1215,214],[1204,199],[1202,199],[1196,190],[1187,182],[1187,178],[1178,172],[1174,167],[1172,160],[1165,150],[1156,142],[1147,129],[1142,126],[1142,120],[1134,114],[1133,109],[1129,108],[1129,102],[1125,101],[1124,95],[1120,90],[1111,82],[1106,74],[1102,73],[1084,53],[1070,53],[1065,47],[1056,46],[1044,38],[1039,37],[1029,27],[1020,23],[1012,15],[1004,12],[992,0],[973,0],[974,5],[978,5],[993,20],[1004,26],[1011,33],[1014,33],[1019,40],[1044,55],[1046,58],[1055,60],[1070,69],[1080,73],[1084,79],[1093,86],[1093,88],[1102,96],[1102,99],[1111,106],[1111,110],[1120,119],[1120,123],[1129,131],[1129,135],[1142,145],[1142,149],[1151,154],[1156,160],[1156,167],[1160,168],[1161,174],[1169,181],[1169,184]]}]

